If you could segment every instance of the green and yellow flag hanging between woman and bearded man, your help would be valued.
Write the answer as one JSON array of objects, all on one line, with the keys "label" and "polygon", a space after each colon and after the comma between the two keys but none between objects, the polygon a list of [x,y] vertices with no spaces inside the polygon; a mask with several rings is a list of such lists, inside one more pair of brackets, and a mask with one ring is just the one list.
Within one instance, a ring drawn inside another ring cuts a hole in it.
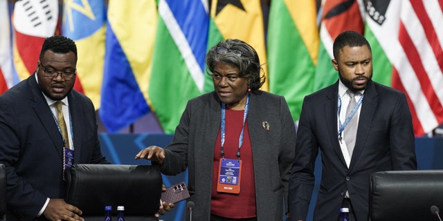
[{"label": "green and yellow flag hanging between woman and bearded man", "polygon": [[268,25],[269,91],[283,95],[294,120],[313,92],[318,55],[315,0],[273,0]]}]

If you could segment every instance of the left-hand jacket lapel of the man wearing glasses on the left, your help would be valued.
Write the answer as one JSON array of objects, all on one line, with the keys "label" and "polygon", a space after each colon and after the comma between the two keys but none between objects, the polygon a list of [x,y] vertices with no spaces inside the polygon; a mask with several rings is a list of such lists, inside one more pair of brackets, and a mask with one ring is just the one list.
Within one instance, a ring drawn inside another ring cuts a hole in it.
[{"label": "left-hand jacket lapel of the man wearing glasses on the left", "polygon": [[53,147],[57,151],[58,155],[62,159],[62,137],[60,131],[57,128],[57,123],[55,123],[54,116],[46,104],[46,100],[43,97],[42,91],[40,90],[37,81],[35,80],[35,74],[28,77],[28,88],[29,88],[29,99],[33,102],[33,108],[37,117],[39,117],[40,122],[43,124],[46,132],[51,137],[53,142]]}]

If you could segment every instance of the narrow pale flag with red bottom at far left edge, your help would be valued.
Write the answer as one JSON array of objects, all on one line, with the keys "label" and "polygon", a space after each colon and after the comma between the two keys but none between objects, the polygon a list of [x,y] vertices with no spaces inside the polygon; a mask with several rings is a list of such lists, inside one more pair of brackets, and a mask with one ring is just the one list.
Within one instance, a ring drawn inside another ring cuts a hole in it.
[{"label": "narrow pale flag with red bottom at far left edge", "polygon": [[17,80],[12,70],[11,32],[8,1],[0,0],[0,94]]}]

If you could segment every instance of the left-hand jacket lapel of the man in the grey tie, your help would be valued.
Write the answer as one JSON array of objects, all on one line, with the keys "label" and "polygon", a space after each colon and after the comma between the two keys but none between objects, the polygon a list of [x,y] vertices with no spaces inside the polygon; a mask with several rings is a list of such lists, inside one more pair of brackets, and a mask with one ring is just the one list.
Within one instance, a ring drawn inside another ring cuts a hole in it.
[{"label": "left-hand jacket lapel of the man in the grey tie", "polygon": [[332,144],[332,148],[334,148],[334,151],[342,164],[347,167],[345,157],[343,157],[343,152],[341,152],[340,144],[338,143],[338,122],[337,122],[337,115],[338,115],[338,81],[336,84],[334,84],[334,87],[331,87],[330,90],[327,92],[327,99],[324,104],[325,108],[325,120],[326,120],[326,126],[329,136],[329,142]]}]

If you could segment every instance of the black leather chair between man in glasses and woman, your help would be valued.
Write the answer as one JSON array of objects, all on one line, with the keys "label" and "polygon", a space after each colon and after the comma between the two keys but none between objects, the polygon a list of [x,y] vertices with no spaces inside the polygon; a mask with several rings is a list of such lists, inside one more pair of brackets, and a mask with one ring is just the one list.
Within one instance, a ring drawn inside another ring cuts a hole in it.
[{"label": "black leather chair between man in glasses and woman", "polygon": [[78,206],[85,220],[102,221],[105,206],[125,206],[127,220],[158,220],[160,171],[153,166],[116,164],[75,164],[66,170],[66,202]]}]

